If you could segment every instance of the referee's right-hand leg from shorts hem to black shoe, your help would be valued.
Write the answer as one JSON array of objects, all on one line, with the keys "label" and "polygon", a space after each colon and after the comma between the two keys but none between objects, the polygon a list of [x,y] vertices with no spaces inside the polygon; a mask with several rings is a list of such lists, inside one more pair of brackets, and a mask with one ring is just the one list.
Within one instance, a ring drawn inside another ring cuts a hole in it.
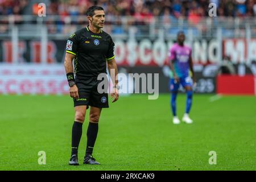
[{"label": "referee's right-hand leg from shorts hem to black shoe", "polygon": [[100,120],[101,108],[90,107],[89,126],[87,129],[87,144],[85,151],[84,164],[100,164],[92,157],[93,147],[98,134],[98,122]]}]

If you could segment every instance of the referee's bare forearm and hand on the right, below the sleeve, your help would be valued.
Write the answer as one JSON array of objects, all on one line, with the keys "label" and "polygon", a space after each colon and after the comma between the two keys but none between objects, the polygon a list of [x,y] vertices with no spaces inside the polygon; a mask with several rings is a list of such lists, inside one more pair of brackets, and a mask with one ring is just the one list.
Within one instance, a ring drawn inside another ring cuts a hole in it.
[{"label": "referee's bare forearm and hand on the right, below the sleeve", "polygon": [[[118,69],[117,69],[117,63],[115,63],[115,59],[108,60],[108,70],[111,77],[111,80],[114,84],[113,92],[111,93],[111,98],[114,97],[114,100],[112,102],[115,102],[118,100],[119,93],[118,93]],[[114,75],[113,75],[114,73]]]}]

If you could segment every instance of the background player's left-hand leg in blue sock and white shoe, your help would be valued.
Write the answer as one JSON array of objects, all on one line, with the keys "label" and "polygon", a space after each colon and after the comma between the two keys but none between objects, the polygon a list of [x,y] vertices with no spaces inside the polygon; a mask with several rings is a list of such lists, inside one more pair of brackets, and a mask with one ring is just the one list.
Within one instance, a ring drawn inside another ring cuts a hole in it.
[{"label": "background player's left-hand leg in blue sock and white shoe", "polygon": [[172,109],[172,115],[173,115],[173,119],[172,122],[174,124],[179,124],[180,120],[177,117],[177,113],[176,113],[176,98],[177,98],[177,93],[179,90],[179,83],[175,82],[175,80],[173,78],[170,79],[170,90],[171,90],[171,109]]}]

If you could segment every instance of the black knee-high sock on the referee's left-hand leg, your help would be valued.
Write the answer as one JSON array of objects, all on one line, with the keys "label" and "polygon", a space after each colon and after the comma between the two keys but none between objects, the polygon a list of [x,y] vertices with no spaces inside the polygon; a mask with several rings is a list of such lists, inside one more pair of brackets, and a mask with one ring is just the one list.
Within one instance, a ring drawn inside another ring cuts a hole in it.
[{"label": "black knee-high sock on the referee's left-hand leg", "polygon": [[77,155],[77,149],[82,136],[82,123],[75,121],[72,127],[72,150],[71,155]]}]

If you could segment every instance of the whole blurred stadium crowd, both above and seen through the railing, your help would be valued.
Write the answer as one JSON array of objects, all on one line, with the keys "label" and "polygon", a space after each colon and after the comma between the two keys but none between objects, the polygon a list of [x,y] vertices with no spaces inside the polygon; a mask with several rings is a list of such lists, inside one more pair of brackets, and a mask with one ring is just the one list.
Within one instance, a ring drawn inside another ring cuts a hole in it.
[{"label": "whole blurred stadium crowd, both above and seen through the railing", "polygon": [[[226,25],[234,24],[233,20],[227,22],[227,18],[256,16],[256,0],[0,0],[0,15],[15,15],[14,22],[22,24],[24,19],[20,15],[37,15],[40,2],[46,3],[46,23],[49,32],[53,34],[70,32],[71,27],[65,27],[66,24],[87,24],[86,18],[80,15],[85,15],[88,7],[93,5],[104,8],[108,15],[105,24],[109,25],[113,34],[127,32],[130,25],[142,25],[142,28],[148,29],[147,26],[152,20],[163,24],[164,28],[172,33],[176,31],[173,25],[176,25],[179,19],[187,21],[196,32],[207,32],[208,26],[203,21],[204,17],[208,17],[209,3],[216,4],[217,16],[224,17],[222,22]],[[8,18],[0,19],[2,25],[9,23]],[[30,23],[37,22],[31,20]],[[0,32],[6,30],[7,26],[0,28]]]}]

